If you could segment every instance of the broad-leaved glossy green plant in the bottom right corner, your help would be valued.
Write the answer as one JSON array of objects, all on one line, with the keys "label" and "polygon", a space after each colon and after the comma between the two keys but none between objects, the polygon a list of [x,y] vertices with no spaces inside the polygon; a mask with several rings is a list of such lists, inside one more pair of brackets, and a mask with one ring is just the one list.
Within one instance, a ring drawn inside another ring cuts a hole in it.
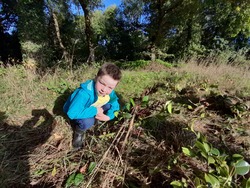
[{"label": "broad-leaved glossy green plant in the bottom right corner", "polygon": [[[249,172],[250,165],[240,154],[229,156],[220,152],[208,143],[206,137],[199,132],[191,131],[196,135],[196,141],[192,147],[182,147],[185,156],[190,160],[195,160],[205,168],[195,172],[194,177],[182,178],[182,180],[172,181],[174,188],[196,187],[196,188],[249,188],[250,178],[246,175]],[[182,164],[182,167],[188,170],[188,164]]]}]

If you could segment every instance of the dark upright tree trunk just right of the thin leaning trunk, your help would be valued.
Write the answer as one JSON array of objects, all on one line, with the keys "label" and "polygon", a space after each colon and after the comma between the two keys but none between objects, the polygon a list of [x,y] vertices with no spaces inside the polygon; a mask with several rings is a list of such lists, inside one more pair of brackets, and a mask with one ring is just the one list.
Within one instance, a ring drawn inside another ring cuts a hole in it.
[{"label": "dark upright tree trunk just right of the thin leaning trunk", "polygon": [[95,48],[93,43],[93,28],[91,26],[91,20],[90,20],[90,10],[88,9],[88,1],[86,0],[79,0],[81,7],[84,12],[84,18],[85,18],[85,34],[88,44],[88,50],[89,50],[89,56],[87,63],[92,64],[95,62]]}]

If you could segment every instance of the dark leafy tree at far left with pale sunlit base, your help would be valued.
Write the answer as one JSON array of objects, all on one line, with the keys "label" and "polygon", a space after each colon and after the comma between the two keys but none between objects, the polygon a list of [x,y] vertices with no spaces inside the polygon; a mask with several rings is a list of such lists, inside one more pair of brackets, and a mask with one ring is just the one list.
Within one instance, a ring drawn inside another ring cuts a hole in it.
[{"label": "dark leafy tree at far left with pale sunlit base", "polygon": [[16,12],[23,60],[32,64],[42,62],[47,39],[44,1],[19,0]]}]

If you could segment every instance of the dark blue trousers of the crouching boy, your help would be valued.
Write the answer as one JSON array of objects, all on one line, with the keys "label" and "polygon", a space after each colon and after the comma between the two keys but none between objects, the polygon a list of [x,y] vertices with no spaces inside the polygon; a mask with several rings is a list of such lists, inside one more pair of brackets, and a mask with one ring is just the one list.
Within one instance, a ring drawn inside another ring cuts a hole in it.
[{"label": "dark blue trousers of the crouching boy", "polygon": [[[110,104],[105,104],[102,106],[102,109],[105,112],[111,108]],[[76,129],[80,129],[81,131],[86,131],[87,129],[91,128],[95,124],[95,117],[92,118],[84,118],[84,119],[72,119],[71,124],[76,126]]]}]

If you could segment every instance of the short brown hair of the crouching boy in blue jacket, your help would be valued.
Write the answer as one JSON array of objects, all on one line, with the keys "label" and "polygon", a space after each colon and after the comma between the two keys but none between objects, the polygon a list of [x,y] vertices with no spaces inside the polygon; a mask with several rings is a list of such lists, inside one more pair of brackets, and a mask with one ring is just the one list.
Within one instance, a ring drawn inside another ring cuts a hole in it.
[{"label": "short brown hair of the crouching boy in blue jacket", "polygon": [[114,80],[121,80],[122,73],[118,66],[113,63],[105,63],[99,69],[96,77],[101,77],[104,75],[109,75]]}]

